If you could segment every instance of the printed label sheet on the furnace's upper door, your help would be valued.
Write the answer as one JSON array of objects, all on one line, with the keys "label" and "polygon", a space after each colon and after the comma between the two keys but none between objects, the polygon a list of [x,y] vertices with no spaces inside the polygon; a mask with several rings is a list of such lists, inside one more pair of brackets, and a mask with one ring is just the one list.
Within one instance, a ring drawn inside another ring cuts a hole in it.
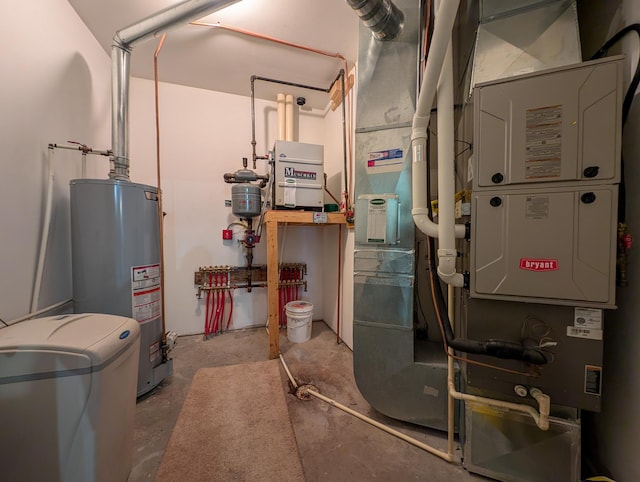
[{"label": "printed label sheet on the furnace's upper door", "polygon": [[560,177],[561,159],[562,106],[527,110],[525,179]]}]

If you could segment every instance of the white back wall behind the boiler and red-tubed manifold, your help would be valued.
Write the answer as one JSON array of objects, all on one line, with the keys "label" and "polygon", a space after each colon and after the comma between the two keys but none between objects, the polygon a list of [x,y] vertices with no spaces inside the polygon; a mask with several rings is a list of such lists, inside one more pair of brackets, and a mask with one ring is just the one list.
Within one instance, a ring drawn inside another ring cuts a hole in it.
[{"label": "white back wall behind the boiler and red-tubed manifold", "polygon": [[[240,169],[242,157],[251,158],[250,99],[166,83],[160,84],[159,98],[163,207],[167,213],[167,329],[179,334],[201,333],[205,306],[204,300],[195,297],[194,271],[201,266],[245,264],[237,240],[223,241],[221,232],[229,223],[237,221],[231,209],[224,206],[225,199],[231,198],[231,185],[224,182],[223,174]],[[131,179],[151,185],[157,184],[154,109],[153,82],[132,79]],[[301,110],[299,113],[298,140],[325,145],[325,170],[332,180],[340,179],[337,171],[342,169],[341,122],[340,111],[326,118],[323,111]],[[256,100],[259,155],[272,148],[275,126],[275,103]],[[259,161],[258,171],[266,172],[266,161]],[[334,192],[339,195],[339,183]],[[287,226],[281,228],[279,239],[281,261],[307,263],[308,291],[302,293],[301,298],[314,304],[314,319],[327,317],[331,324],[331,320],[335,320],[336,297],[335,289],[330,286],[335,283],[337,259],[334,262],[328,258],[337,256],[337,251],[332,241],[327,242],[328,248],[324,247],[325,236],[331,236],[329,231],[337,233],[335,227]],[[238,229],[238,233],[241,234],[242,229]],[[255,264],[266,263],[264,241],[254,250]],[[350,275],[345,279],[350,282]],[[257,288],[251,293],[235,290],[234,300],[232,329],[265,324],[266,289]],[[346,306],[345,311],[349,312],[350,307]],[[348,327],[343,330],[350,333]]]}]

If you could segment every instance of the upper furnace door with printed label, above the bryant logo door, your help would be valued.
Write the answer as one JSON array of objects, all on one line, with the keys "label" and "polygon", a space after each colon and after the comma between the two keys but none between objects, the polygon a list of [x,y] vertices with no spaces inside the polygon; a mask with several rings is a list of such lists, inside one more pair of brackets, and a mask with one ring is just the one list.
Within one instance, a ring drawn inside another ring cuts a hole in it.
[{"label": "upper furnace door with printed label, above the bryant logo door", "polygon": [[474,189],[618,182],[621,82],[616,57],[476,86]]}]

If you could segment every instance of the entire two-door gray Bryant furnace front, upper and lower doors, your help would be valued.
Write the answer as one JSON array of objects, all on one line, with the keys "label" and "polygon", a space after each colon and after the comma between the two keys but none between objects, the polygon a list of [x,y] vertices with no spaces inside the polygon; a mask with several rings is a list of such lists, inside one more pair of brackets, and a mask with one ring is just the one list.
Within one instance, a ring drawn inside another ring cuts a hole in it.
[{"label": "entire two-door gray Bryant furnace front, upper and lower doors", "polygon": [[476,86],[472,297],[615,308],[622,61]]}]

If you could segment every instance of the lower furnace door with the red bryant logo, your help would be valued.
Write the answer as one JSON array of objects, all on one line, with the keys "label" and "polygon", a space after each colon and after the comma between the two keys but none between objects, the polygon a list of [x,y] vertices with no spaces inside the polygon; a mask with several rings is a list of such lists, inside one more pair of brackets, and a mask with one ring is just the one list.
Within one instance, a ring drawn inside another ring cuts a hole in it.
[{"label": "lower furnace door with the red bryant logo", "polygon": [[472,296],[615,307],[617,191],[475,192]]}]

